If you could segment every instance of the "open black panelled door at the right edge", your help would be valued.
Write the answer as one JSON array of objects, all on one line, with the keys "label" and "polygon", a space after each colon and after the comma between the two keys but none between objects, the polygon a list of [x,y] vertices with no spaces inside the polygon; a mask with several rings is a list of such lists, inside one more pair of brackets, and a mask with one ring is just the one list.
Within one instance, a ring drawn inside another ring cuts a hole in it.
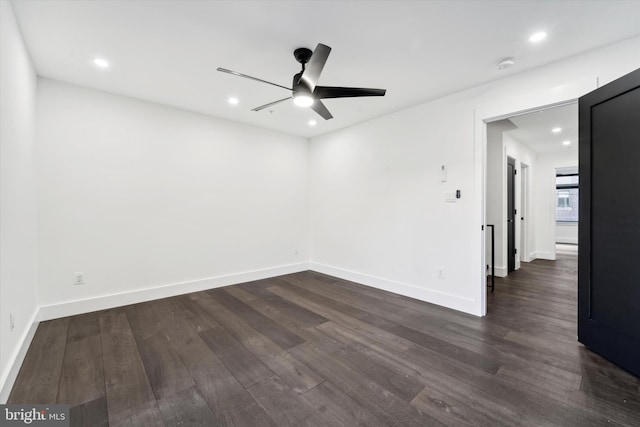
[{"label": "open black panelled door at the right edge", "polygon": [[578,340],[640,376],[640,69],[579,111]]}]

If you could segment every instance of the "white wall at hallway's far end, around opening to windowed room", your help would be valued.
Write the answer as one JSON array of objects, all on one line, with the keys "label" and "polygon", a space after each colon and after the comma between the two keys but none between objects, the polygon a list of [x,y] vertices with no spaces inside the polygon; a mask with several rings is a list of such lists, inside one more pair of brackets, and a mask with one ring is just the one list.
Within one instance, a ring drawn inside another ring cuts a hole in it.
[{"label": "white wall at hallway's far end, around opening to windowed room", "polygon": [[[534,188],[537,258],[556,259],[556,169],[578,165],[578,148],[538,155],[538,173]],[[577,243],[577,235],[576,242]]]}]

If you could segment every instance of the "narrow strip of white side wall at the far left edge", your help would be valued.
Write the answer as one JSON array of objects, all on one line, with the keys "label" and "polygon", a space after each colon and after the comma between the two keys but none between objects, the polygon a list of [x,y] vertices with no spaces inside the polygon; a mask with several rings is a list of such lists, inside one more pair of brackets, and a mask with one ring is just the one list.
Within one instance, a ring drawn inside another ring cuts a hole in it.
[{"label": "narrow strip of white side wall at the far left edge", "polygon": [[38,307],[35,99],[31,60],[10,3],[0,1],[0,403],[24,358]]}]

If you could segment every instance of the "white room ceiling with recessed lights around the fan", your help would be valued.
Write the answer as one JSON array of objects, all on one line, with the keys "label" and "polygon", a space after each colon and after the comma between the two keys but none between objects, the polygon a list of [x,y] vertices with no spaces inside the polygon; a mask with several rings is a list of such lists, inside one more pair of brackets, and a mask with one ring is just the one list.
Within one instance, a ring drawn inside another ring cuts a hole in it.
[{"label": "white room ceiling with recessed lights around the fan", "polygon": [[[640,34],[640,0],[62,1],[13,0],[39,75],[312,137]],[[535,31],[548,38],[533,45]],[[330,99],[324,121],[284,89],[292,52],[333,48],[320,84],[387,89]],[[92,60],[107,59],[108,70]],[[496,63],[516,64],[498,71]],[[229,96],[240,104],[230,106]],[[307,121],[317,119],[309,127]]]}]

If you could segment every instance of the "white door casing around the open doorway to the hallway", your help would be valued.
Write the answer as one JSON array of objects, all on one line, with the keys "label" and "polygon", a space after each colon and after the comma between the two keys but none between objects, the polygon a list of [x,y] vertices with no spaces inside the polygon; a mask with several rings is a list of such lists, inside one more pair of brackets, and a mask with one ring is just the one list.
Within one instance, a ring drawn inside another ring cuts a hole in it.
[{"label": "white door casing around the open doorway to the hallway", "polygon": [[508,99],[494,99],[481,104],[474,114],[474,203],[477,206],[477,248],[479,256],[472,262],[477,266],[475,286],[476,314],[487,314],[487,276],[486,276],[486,196],[487,196],[487,124],[522,114],[548,108],[573,104],[582,95],[598,88],[598,77],[593,76],[580,80],[573,80],[560,86],[544,90],[522,93],[520,96]]}]

